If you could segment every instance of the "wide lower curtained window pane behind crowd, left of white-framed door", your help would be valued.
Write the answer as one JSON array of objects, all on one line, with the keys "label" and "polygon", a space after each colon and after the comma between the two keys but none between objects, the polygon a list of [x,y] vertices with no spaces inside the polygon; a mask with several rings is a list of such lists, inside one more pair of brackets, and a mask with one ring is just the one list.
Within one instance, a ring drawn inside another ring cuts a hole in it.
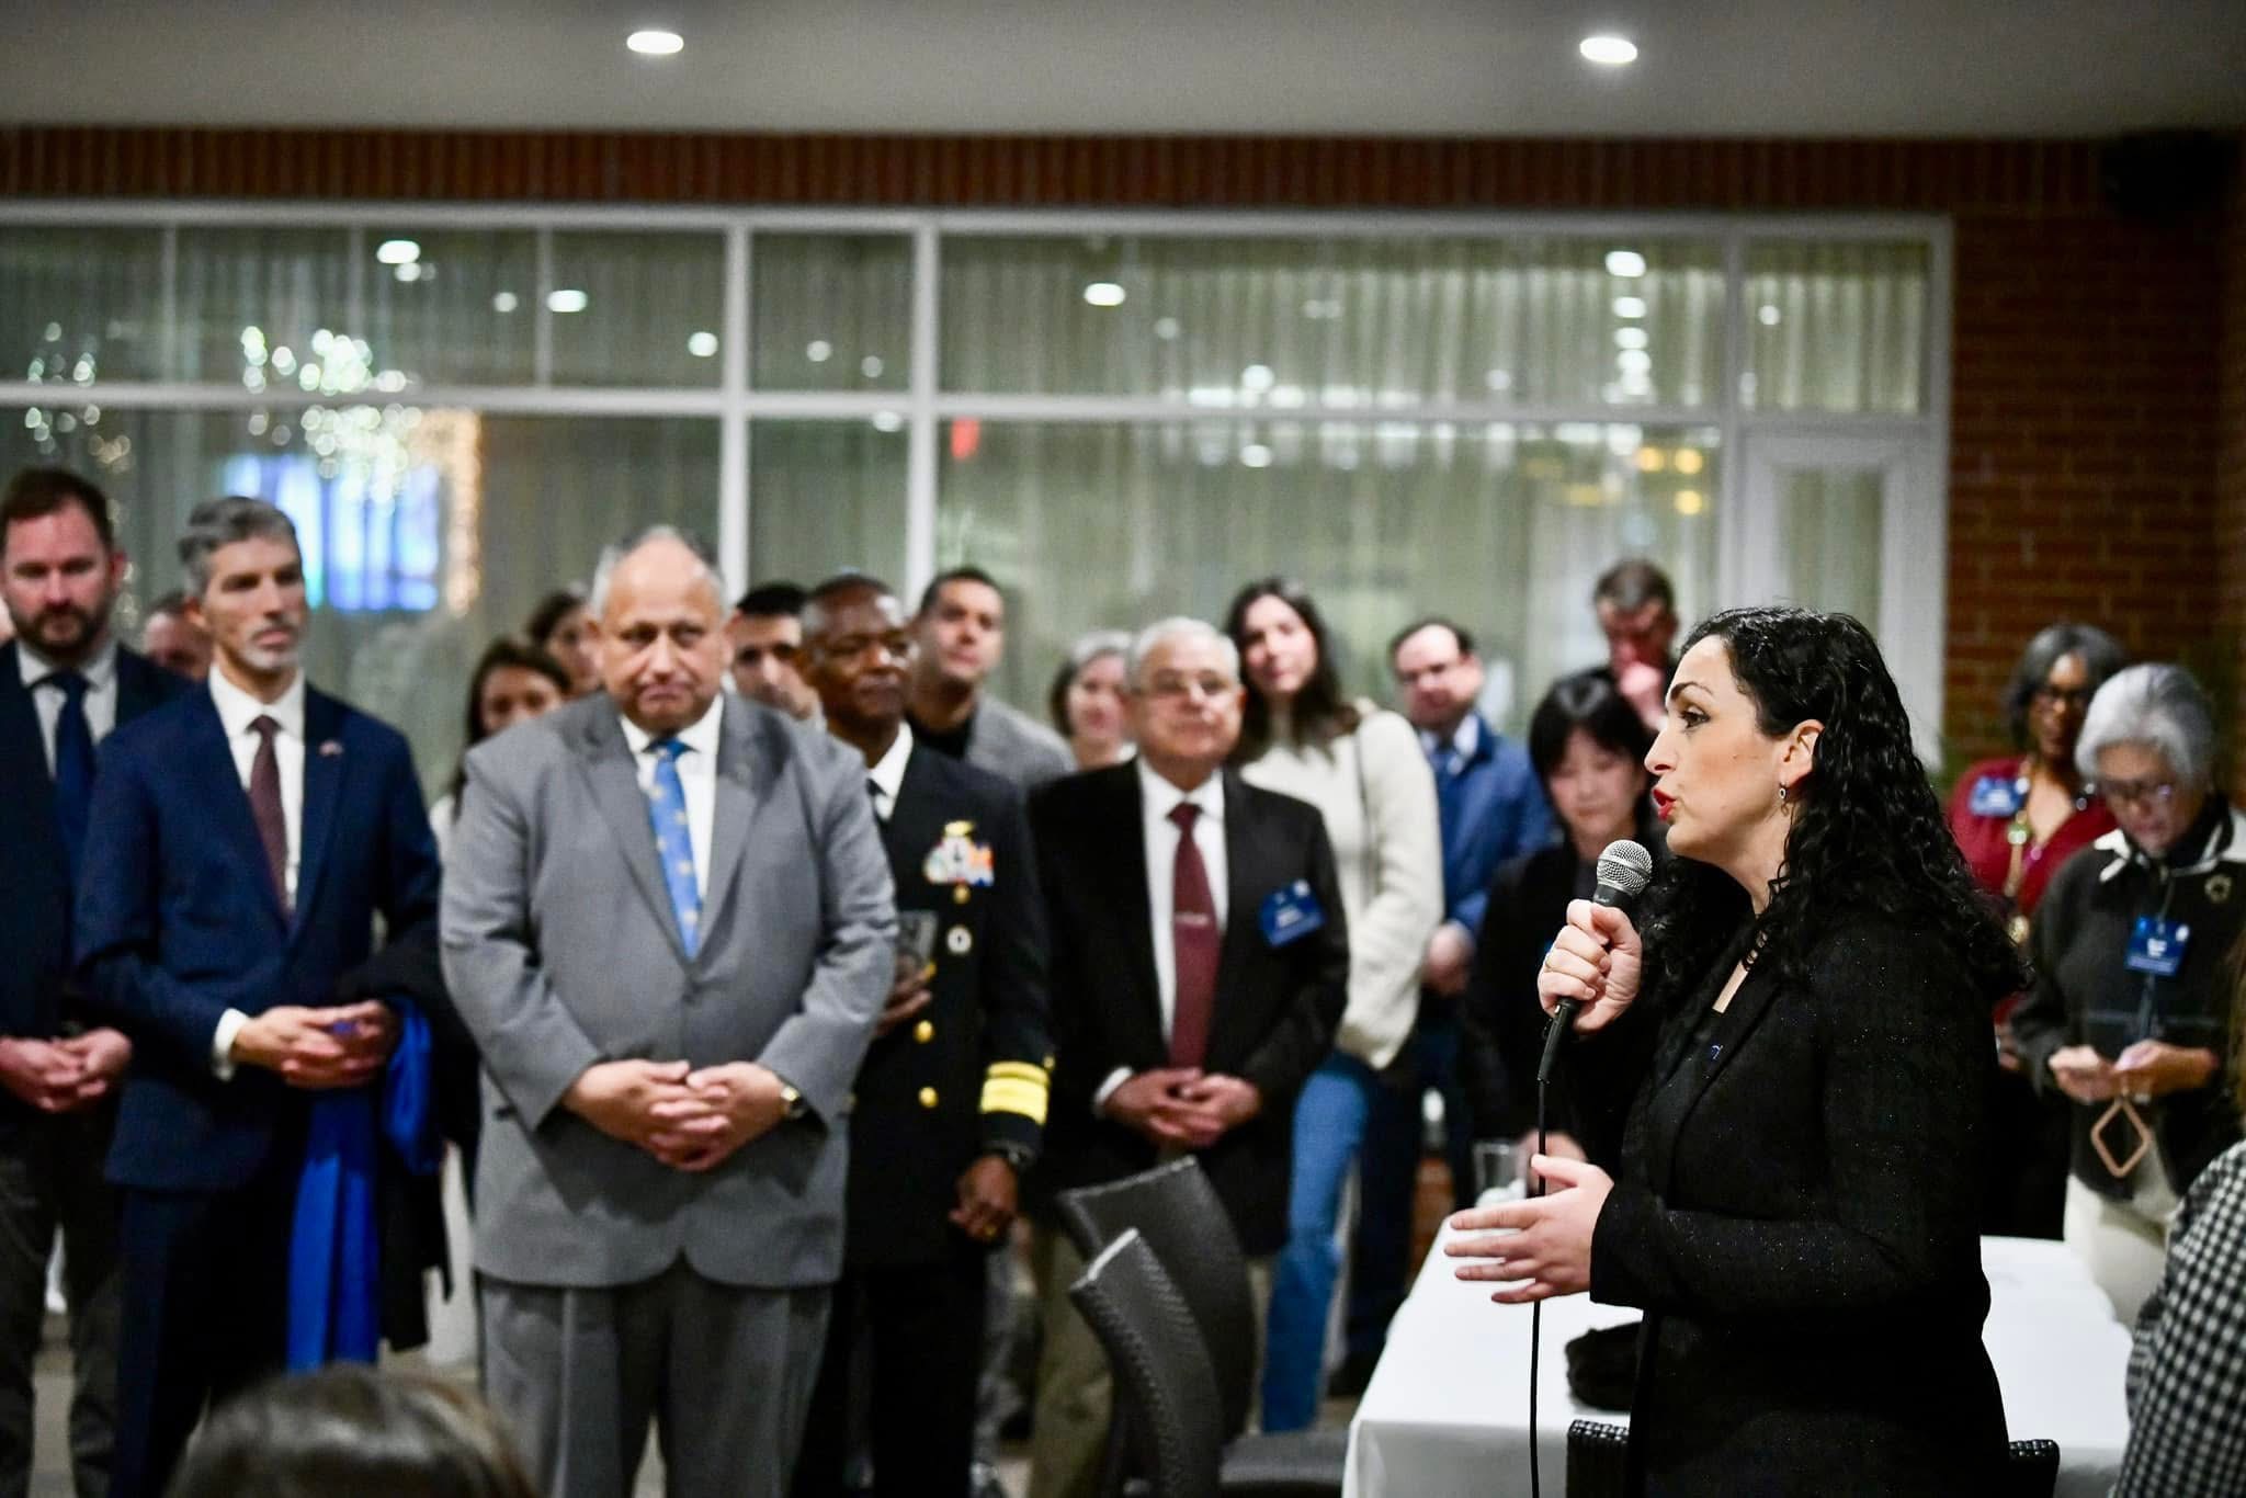
[{"label": "wide lower curtained window pane behind crowd, left of white-framed door", "polygon": [[1633,424],[999,424],[946,433],[937,564],[1015,584],[999,692],[1035,710],[1069,642],[1166,613],[1220,620],[1267,573],[1332,620],[1341,678],[1388,698],[1388,638],[1422,613],[1480,636],[1518,728],[1604,658],[1592,579],[1669,568],[1684,618],[1716,582],[1716,431]]}]

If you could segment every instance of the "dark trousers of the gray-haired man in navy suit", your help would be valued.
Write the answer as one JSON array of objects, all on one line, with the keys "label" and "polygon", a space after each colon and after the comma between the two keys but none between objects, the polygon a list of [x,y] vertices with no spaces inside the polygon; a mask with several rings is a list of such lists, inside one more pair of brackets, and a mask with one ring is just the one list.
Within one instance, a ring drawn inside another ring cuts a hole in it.
[{"label": "dark trousers of the gray-haired man in navy suit", "polygon": [[207,1406],[287,1361],[287,1251],[303,1148],[236,1190],[124,1188],[124,1330],[110,1498],[162,1498]]}]

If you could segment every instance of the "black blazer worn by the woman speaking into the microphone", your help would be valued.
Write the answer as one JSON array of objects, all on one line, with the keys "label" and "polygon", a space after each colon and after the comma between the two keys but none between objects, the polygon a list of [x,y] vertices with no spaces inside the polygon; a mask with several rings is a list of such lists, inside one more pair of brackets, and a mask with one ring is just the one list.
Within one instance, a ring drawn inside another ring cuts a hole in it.
[{"label": "black blazer worn by the woman speaking into the microphone", "polygon": [[1586,1112],[1628,1098],[1590,1296],[1646,1312],[1644,1491],[1997,1491],[1985,995],[1882,916],[1835,921],[1808,986],[1756,968],[1709,1017],[1729,968],[1570,1049]]}]

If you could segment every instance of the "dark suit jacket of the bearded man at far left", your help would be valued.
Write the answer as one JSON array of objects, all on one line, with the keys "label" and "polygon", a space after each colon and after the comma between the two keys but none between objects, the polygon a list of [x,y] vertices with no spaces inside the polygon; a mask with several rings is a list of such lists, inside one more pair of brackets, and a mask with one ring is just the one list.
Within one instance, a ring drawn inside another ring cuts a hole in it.
[{"label": "dark suit jacket of the bearded man at far left", "polygon": [[[70,874],[54,817],[54,773],[38,707],[22,685],[20,647],[0,647],[0,1035],[56,1035],[65,1020],[99,1024],[70,984]],[[117,649],[117,725],[186,689],[164,667]],[[0,1094],[0,1121],[20,1109]]]}]

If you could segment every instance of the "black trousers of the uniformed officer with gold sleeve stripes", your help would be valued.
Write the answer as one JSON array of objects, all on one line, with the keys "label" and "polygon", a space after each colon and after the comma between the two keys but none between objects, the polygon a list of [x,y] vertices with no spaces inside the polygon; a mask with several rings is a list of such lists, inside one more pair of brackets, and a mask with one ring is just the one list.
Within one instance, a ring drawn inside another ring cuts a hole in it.
[{"label": "black trousers of the uniformed officer with gold sleeve stripes", "polygon": [[[844,1269],[827,1323],[827,1357],[795,1462],[795,1498],[836,1498],[851,1444],[851,1348],[871,1357],[874,1491],[966,1498],[975,1462],[982,1372],[984,1260],[955,1235],[932,1264]],[[860,1339],[860,1332],[865,1334]]]}]

